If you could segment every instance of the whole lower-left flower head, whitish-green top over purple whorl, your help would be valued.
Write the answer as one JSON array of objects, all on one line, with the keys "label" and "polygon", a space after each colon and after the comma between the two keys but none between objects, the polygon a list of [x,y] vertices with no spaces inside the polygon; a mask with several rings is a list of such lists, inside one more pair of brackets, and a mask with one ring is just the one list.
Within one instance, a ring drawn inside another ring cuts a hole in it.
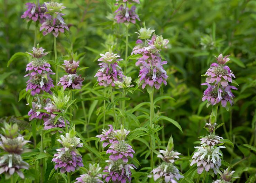
[{"label": "whole lower-left flower head, whitish-green top over purple whorl", "polygon": [[61,139],[57,140],[63,147],[56,149],[57,153],[54,154],[52,162],[55,163],[55,170],[61,168],[61,173],[74,172],[83,166],[81,154],[76,149],[82,147],[83,144],[80,143],[80,138],[75,137],[75,134],[73,128],[70,133],[66,133],[65,136],[61,135]]}]

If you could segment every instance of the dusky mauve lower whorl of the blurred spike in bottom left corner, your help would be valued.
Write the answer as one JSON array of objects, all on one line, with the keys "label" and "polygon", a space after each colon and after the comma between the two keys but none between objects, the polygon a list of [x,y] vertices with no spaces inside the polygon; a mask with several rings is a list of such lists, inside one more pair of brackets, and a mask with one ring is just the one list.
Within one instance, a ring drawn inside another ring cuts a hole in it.
[{"label": "dusky mauve lower whorl of the blurred spike in bottom left corner", "polygon": [[28,170],[28,167],[28,163],[22,161],[18,154],[4,154],[0,157],[0,174],[5,173],[7,179],[15,172],[24,179],[24,174],[20,169]]}]

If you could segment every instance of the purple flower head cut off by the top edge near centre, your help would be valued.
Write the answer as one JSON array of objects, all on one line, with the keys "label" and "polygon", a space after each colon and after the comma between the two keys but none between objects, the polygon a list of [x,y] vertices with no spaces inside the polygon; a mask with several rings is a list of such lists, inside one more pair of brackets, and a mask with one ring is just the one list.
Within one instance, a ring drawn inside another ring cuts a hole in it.
[{"label": "purple flower head cut off by the top edge near centre", "polygon": [[116,5],[119,6],[118,9],[115,11],[116,16],[115,16],[115,20],[118,24],[120,23],[125,23],[126,25],[128,25],[130,22],[132,24],[136,23],[136,19],[140,21],[139,16],[136,14],[135,9],[136,6],[131,6],[131,8],[129,9],[128,7],[128,3],[140,3],[139,0],[122,0],[122,2],[119,2],[119,0],[117,0],[118,3]]}]

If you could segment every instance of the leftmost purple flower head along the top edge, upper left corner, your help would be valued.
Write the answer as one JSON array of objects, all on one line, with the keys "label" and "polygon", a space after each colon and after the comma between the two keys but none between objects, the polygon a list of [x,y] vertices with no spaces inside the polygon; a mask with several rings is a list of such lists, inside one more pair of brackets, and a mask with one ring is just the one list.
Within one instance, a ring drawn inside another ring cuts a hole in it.
[{"label": "leftmost purple flower head along the top edge, upper left corner", "polygon": [[33,20],[34,22],[39,21],[41,24],[45,21],[47,15],[45,14],[45,4],[26,3],[27,10],[21,15],[21,18]]}]

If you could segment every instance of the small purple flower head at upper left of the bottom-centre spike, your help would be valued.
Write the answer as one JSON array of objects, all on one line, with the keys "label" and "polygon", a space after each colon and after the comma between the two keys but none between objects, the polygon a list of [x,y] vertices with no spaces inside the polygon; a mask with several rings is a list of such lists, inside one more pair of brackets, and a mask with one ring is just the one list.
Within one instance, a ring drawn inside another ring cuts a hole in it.
[{"label": "small purple flower head at upper left of the bottom-centre spike", "polygon": [[103,129],[102,130],[102,134],[101,135],[97,135],[96,137],[100,138],[100,141],[104,141],[104,143],[102,144],[103,147],[106,147],[109,144],[115,143],[117,142],[116,137],[115,137],[115,132],[113,130],[112,125],[109,125],[109,129]]}]

